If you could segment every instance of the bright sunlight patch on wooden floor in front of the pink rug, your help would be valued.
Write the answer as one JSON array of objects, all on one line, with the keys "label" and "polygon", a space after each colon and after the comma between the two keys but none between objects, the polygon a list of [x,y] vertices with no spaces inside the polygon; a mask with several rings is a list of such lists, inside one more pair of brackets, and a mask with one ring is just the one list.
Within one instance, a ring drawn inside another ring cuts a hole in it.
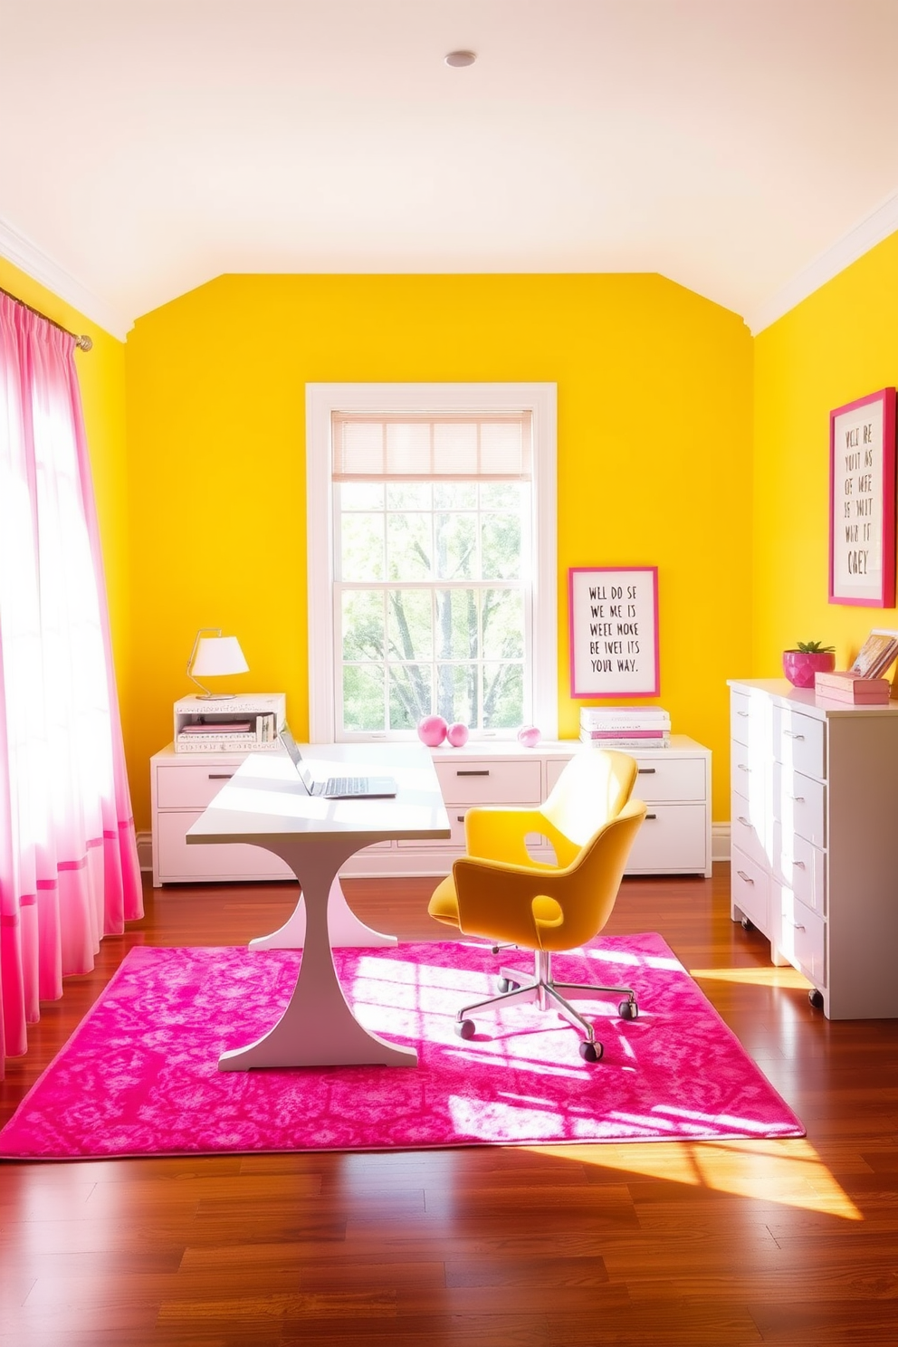
[{"label": "bright sunlight patch on wooden floor in front of the pink rug", "polygon": [[664,1141],[526,1149],[641,1177],[712,1188],[735,1197],[780,1202],[844,1220],[863,1220],[851,1197],[805,1140]]}]

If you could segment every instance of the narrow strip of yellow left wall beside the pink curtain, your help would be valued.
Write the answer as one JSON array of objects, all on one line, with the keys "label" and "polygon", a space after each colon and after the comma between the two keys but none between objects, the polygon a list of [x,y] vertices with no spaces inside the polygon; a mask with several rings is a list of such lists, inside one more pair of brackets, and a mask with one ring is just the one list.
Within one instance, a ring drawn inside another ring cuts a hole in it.
[{"label": "narrow strip of yellow left wall beside the pink curtain", "polygon": [[[12,263],[0,257],[0,286],[18,299],[62,323],[69,331],[85,334],[93,350],[75,350],[81,385],[90,469],[106,572],[109,625],[118,699],[127,734],[128,667],[131,643],[131,581],[128,571],[128,453],[125,445],[125,346],[85,318],[58,295],[40,286]],[[143,764],[129,758],[132,777],[145,775]]]}]

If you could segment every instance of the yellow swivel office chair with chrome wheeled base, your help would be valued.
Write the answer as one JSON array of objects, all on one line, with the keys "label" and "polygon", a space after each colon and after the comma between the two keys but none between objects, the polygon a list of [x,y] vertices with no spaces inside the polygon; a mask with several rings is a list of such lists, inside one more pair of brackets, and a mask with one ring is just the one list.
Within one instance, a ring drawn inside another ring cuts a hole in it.
[{"label": "yellow swivel office chair with chrome wheeled base", "polygon": [[[592,999],[600,993],[621,995],[618,1014],[635,1020],[631,987],[556,983],[552,952],[572,950],[602,931],[617,898],[633,839],[645,804],[627,801],[637,765],[623,753],[586,750],[565,766],[540,810],[469,810],[464,819],[467,854],[438,886],[428,912],[463,935],[485,936],[499,944],[533,950],[533,981],[522,985],[517,968],[499,970],[499,994],[464,1006],[455,1017],[462,1039],[473,1037],[469,1014],[491,1005],[536,1001],[541,1010],[555,1006],[584,1041],[580,1056],[598,1061],[602,1044],[592,1025],[569,999]],[[591,824],[591,826],[590,826]],[[525,836],[541,832],[555,846],[557,865],[533,861]],[[567,993],[567,995],[564,995]]]}]

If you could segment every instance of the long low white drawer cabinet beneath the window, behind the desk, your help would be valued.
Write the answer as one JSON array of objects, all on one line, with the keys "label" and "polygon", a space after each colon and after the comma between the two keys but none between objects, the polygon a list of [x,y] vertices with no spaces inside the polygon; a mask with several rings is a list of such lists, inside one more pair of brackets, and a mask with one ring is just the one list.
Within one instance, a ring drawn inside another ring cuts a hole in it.
[{"label": "long low white drawer cabinet beneath the window, behind the desk", "polygon": [[[578,740],[544,742],[536,749],[510,744],[467,744],[432,749],[452,835],[447,841],[380,842],[346,863],[357,877],[444,876],[464,850],[464,814],[474,804],[540,804],[564,764],[583,748]],[[287,866],[260,847],[188,847],[187,828],[199,818],[245,754],[175,753],[151,758],[153,884],[226,880],[285,880]],[[640,766],[635,795],[649,806],[627,874],[711,874],[711,750],[683,734],[669,749],[634,754]],[[533,855],[552,859],[533,839]]]}]

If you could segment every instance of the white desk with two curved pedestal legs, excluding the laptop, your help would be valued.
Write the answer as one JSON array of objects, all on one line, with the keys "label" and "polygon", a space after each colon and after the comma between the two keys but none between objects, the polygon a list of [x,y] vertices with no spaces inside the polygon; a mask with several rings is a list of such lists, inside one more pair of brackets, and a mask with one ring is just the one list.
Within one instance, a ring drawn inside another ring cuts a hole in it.
[{"label": "white desk with two curved pedestal legs, excluding the laptop", "polygon": [[257,1043],[222,1053],[219,1071],[249,1067],[413,1067],[417,1055],[369,1033],[353,1014],[334,968],[335,944],[394,944],[349,909],[337,878],[361,847],[392,838],[446,838],[448,818],[434,762],[420,744],[300,745],[315,776],[362,768],[396,779],[394,799],[324,800],[310,796],[285,754],[246,758],[187,831],[188,846],[248,842],[291,867],[302,893],[289,920],[250,948],[298,948],[296,986],[280,1020]]}]

